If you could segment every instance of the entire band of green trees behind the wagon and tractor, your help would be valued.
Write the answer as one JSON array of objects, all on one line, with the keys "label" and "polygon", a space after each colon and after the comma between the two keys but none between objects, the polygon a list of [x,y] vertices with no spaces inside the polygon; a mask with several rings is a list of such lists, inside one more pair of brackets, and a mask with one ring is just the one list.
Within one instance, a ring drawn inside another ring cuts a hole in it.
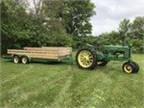
[{"label": "entire band of green trees behind the wagon and tractor", "polygon": [[[30,6],[33,4],[33,6]],[[1,51],[25,46],[72,46],[126,44],[142,52],[144,17],[124,19],[118,31],[92,36],[90,18],[96,14],[91,0],[3,0],[1,7]]]}]

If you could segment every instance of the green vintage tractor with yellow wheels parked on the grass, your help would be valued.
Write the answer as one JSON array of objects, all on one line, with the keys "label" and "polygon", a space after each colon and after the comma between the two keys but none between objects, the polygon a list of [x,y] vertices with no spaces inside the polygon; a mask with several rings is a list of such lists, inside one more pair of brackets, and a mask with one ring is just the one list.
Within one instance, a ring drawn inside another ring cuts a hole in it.
[{"label": "green vintage tractor with yellow wheels parked on the grass", "polygon": [[82,69],[94,69],[96,66],[105,66],[109,61],[126,61],[122,69],[126,73],[137,73],[139,66],[131,60],[131,46],[86,45],[76,54],[77,65]]}]

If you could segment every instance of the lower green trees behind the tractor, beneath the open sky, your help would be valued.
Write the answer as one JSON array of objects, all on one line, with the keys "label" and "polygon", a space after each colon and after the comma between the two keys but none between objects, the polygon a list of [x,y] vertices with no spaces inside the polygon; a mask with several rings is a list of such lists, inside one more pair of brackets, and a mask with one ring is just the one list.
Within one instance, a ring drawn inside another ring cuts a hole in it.
[{"label": "lower green trees behind the tractor, beneath the open sky", "polygon": [[123,19],[117,31],[102,33],[97,37],[86,37],[85,43],[93,45],[130,45],[133,52],[144,53],[144,16],[133,21]]}]

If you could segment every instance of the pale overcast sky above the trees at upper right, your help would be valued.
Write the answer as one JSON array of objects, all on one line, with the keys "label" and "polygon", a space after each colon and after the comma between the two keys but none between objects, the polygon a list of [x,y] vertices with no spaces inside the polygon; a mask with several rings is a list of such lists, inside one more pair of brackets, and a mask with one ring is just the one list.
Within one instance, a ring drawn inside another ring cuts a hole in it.
[{"label": "pale overcast sky above the trees at upper right", "polygon": [[133,20],[144,16],[144,0],[91,0],[95,3],[96,15],[91,18],[92,34],[117,30],[124,18]]}]

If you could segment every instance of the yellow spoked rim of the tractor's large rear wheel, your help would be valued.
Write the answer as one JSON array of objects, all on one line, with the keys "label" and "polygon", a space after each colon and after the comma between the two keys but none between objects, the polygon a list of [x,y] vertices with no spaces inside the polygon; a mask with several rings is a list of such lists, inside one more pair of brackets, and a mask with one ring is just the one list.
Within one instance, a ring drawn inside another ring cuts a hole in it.
[{"label": "yellow spoked rim of the tractor's large rear wheel", "polygon": [[93,55],[88,50],[82,50],[78,55],[78,63],[83,68],[89,68],[93,63]]}]

